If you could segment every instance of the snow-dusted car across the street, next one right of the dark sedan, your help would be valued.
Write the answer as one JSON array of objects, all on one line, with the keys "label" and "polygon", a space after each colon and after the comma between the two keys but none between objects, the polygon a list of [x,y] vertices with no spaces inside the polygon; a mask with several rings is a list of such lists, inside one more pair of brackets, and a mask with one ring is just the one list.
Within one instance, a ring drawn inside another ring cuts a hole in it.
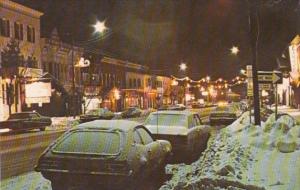
[{"label": "snow-dusted car across the street, next one right of the dark sedan", "polygon": [[86,114],[80,116],[80,123],[93,121],[96,119],[112,119],[114,113],[106,108],[93,109],[88,111]]}]

